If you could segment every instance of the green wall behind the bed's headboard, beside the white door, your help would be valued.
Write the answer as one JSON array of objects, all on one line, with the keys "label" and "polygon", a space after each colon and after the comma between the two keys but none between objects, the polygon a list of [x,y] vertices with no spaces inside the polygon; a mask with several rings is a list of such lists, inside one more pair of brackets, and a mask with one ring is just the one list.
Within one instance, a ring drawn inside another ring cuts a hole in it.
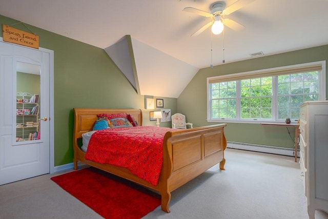
[{"label": "green wall behind the bed's headboard, beside the white door", "polygon": [[[11,25],[17,22],[0,15],[1,24]],[[54,118],[52,119],[54,120],[55,166],[73,162],[72,109],[74,107],[141,109],[142,124],[156,125],[156,121],[149,120],[151,110],[145,110],[144,96],[136,93],[105,50],[27,26],[39,36],[40,47],[54,51]],[[30,32],[22,24],[14,25],[13,28]],[[0,29],[2,34],[2,25]],[[177,98],[159,98],[164,99],[165,109],[171,109],[171,113],[177,112]],[[155,111],[159,110],[160,108],[155,109]],[[171,127],[171,123],[160,123],[160,126]]]}]

